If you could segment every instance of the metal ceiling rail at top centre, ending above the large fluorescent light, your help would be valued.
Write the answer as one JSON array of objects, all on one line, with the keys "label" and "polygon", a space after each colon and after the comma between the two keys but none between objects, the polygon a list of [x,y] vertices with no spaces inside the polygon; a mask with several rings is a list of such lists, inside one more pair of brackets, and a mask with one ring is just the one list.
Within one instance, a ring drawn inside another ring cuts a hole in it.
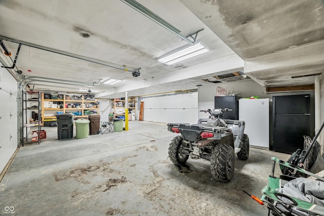
[{"label": "metal ceiling rail at top centre, ending above the large fluorescent light", "polygon": [[160,18],[159,16],[157,16],[156,14],[154,14],[153,12],[151,12],[150,10],[148,10],[147,8],[145,8],[143,5],[139,4],[135,0],[120,0],[120,1],[125,3],[126,5],[130,6],[131,8],[135,9],[136,11],[140,12],[141,14],[143,14],[147,18],[151,19],[152,21],[156,22],[160,26],[171,31],[172,33],[174,33],[181,39],[187,41],[189,44],[194,45],[194,41],[191,41],[186,36],[180,34],[180,32],[181,32],[180,30],[178,30],[176,27],[172,26],[170,23],[168,23],[164,19]]}]

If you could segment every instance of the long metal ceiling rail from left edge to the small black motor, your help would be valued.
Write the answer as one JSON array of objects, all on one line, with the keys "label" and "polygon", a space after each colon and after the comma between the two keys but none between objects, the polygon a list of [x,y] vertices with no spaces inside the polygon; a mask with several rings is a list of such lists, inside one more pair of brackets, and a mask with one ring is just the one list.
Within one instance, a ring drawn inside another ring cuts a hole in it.
[{"label": "long metal ceiling rail from left edge to the small black motor", "polygon": [[36,49],[39,49],[39,50],[45,50],[45,51],[49,51],[49,52],[52,52],[52,53],[57,53],[57,54],[60,54],[60,55],[69,56],[69,57],[72,57],[72,58],[76,58],[76,59],[80,59],[80,60],[84,60],[84,61],[88,61],[88,62],[92,62],[92,63],[96,63],[96,64],[105,65],[105,66],[112,67],[112,68],[119,69],[119,70],[125,70],[125,71],[130,71],[130,72],[138,72],[138,69],[131,70],[131,69],[125,68],[124,66],[121,67],[121,66],[112,65],[112,64],[100,61],[100,60],[91,59],[91,58],[75,55],[75,54],[72,54],[72,53],[67,53],[67,52],[60,51],[60,50],[54,50],[52,48],[31,44],[30,42],[13,39],[13,38],[6,37],[6,36],[3,36],[3,35],[0,35],[0,37],[2,39],[4,39],[4,40],[15,42],[17,44],[22,44],[22,45],[25,45],[25,46],[28,46],[28,47],[36,48]]}]

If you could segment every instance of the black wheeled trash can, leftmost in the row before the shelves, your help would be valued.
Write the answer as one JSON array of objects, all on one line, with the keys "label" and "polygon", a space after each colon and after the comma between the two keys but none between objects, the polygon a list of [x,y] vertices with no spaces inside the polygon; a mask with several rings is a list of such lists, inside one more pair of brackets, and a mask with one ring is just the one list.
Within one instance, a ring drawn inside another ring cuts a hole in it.
[{"label": "black wheeled trash can, leftmost in the row before the shelves", "polygon": [[72,139],[73,138],[73,114],[63,113],[56,115],[57,138]]}]

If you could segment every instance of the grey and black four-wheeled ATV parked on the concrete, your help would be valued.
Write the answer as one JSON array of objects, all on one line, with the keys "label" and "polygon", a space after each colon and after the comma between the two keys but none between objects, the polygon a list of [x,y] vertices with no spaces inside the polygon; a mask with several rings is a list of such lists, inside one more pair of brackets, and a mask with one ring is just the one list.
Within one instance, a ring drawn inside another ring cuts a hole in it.
[{"label": "grey and black four-wheeled ATV parked on the concrete", "polygon": [[209,118],[197,124],[168,123],[168,131],[181,134],[169,145],[169,158],[176,165],[191,159],[211,162],[212,176],[220,182],[229,182],[234,175],[235,154],[241,160],[249,158],[249,137],[244,134],[245,122],[222,119],[230,109],[200,110]]}]

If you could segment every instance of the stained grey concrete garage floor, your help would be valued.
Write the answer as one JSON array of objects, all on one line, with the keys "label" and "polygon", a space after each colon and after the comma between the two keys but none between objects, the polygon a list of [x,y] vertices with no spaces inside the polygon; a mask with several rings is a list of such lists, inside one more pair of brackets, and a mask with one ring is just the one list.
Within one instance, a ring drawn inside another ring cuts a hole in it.
[{"label": "stained grey concrete garage floor", "polygon": [[169,160],[175,134],[165,123],[130,121],[129,131],[69,140],[42,129],[48,138],[21,147],[0,182],[0,214],[13,206],[16,215],[265,215],[242,190],[261,197],[271,157],[290,156],[251,148],[224,184],[209,161],[179,169]]}]

